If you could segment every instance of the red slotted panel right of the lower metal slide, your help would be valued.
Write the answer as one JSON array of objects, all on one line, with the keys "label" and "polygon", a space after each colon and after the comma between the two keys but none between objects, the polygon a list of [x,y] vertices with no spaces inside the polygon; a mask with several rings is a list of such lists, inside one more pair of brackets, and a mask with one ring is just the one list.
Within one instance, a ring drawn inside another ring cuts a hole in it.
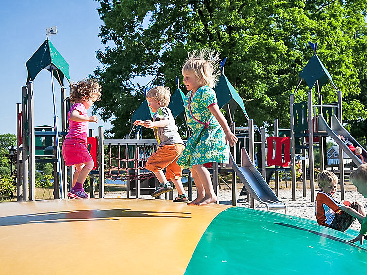
[{"label": "red slotted panel right of the lower metal slide", "polygon": [[[289,137],[267,137],[268,155],[266,161],[269,166],[288,166],[291,161],[290,149],[291,139]],[[273,157],[273,142],[275,142],[275,155]],[[281,149],[284,145],[284,159],[282,158]]]}]

